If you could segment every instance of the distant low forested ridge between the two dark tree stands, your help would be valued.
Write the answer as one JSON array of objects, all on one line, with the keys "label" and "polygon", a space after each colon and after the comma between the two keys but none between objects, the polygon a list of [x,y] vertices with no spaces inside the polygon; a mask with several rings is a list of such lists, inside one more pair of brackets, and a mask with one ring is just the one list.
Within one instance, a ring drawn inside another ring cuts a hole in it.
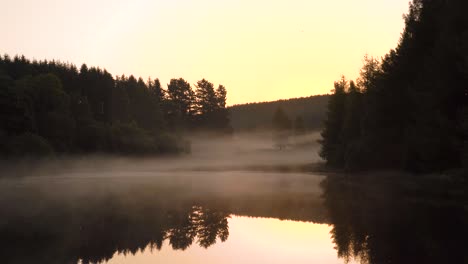
[{"label": "distant low forested ridge between the two dark tree stands", "polygon": [[281,107],[291,120],[300,116],[309,130],[320,130],[327,111],[329,95],[314,95],[272,102],[239,104],[228,107],[235,131],[270,129],[273,113]]}]

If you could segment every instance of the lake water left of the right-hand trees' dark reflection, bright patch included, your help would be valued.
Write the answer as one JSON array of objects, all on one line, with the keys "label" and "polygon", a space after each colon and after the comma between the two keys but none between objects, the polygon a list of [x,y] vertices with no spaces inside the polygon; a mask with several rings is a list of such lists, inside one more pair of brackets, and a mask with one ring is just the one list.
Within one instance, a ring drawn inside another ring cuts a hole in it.
[{"label": "lake water left of the right-hand trees' dark reflection, bright patch included", "polygon": [[108,177],[3,179],[0,252],[7,263],[344,263],[326,222],[323,176]]}]

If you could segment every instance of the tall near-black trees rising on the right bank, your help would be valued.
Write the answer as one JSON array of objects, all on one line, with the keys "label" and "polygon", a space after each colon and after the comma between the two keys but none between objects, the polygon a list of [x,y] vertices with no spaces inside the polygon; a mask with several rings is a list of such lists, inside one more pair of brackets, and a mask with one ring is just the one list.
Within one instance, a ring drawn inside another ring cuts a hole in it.
[{"label": "tall near-black trees rising on the right bank", "polygon": [[398,46],[335,82],[321,156],[348,170],[468,167],[468,2],[413,0]]}]

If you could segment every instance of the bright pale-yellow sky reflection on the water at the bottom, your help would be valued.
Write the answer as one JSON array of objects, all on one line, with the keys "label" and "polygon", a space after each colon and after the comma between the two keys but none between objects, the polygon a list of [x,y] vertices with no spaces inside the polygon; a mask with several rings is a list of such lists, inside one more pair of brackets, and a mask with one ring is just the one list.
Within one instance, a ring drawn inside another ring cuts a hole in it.
[{"label": "bright pale-yellow sky reflection on the water at the bottom", "polygon": [[175,251],[165,241],[136,254],[116,253],[107,263],[343,263],[327,224],[231,216],[229,238],[210,248],[192,245]]}]

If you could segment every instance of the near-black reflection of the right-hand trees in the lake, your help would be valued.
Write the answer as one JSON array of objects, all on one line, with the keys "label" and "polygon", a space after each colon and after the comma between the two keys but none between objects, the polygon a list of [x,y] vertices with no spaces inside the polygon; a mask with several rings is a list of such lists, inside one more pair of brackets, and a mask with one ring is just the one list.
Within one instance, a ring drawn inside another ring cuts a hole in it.
[{"label": "near-black reflection of the right-hand trees in the lake", "polygon": [[336,176],[322,183],[339,257],[369,264],[468,263],[466,188],[388,176]]}]

